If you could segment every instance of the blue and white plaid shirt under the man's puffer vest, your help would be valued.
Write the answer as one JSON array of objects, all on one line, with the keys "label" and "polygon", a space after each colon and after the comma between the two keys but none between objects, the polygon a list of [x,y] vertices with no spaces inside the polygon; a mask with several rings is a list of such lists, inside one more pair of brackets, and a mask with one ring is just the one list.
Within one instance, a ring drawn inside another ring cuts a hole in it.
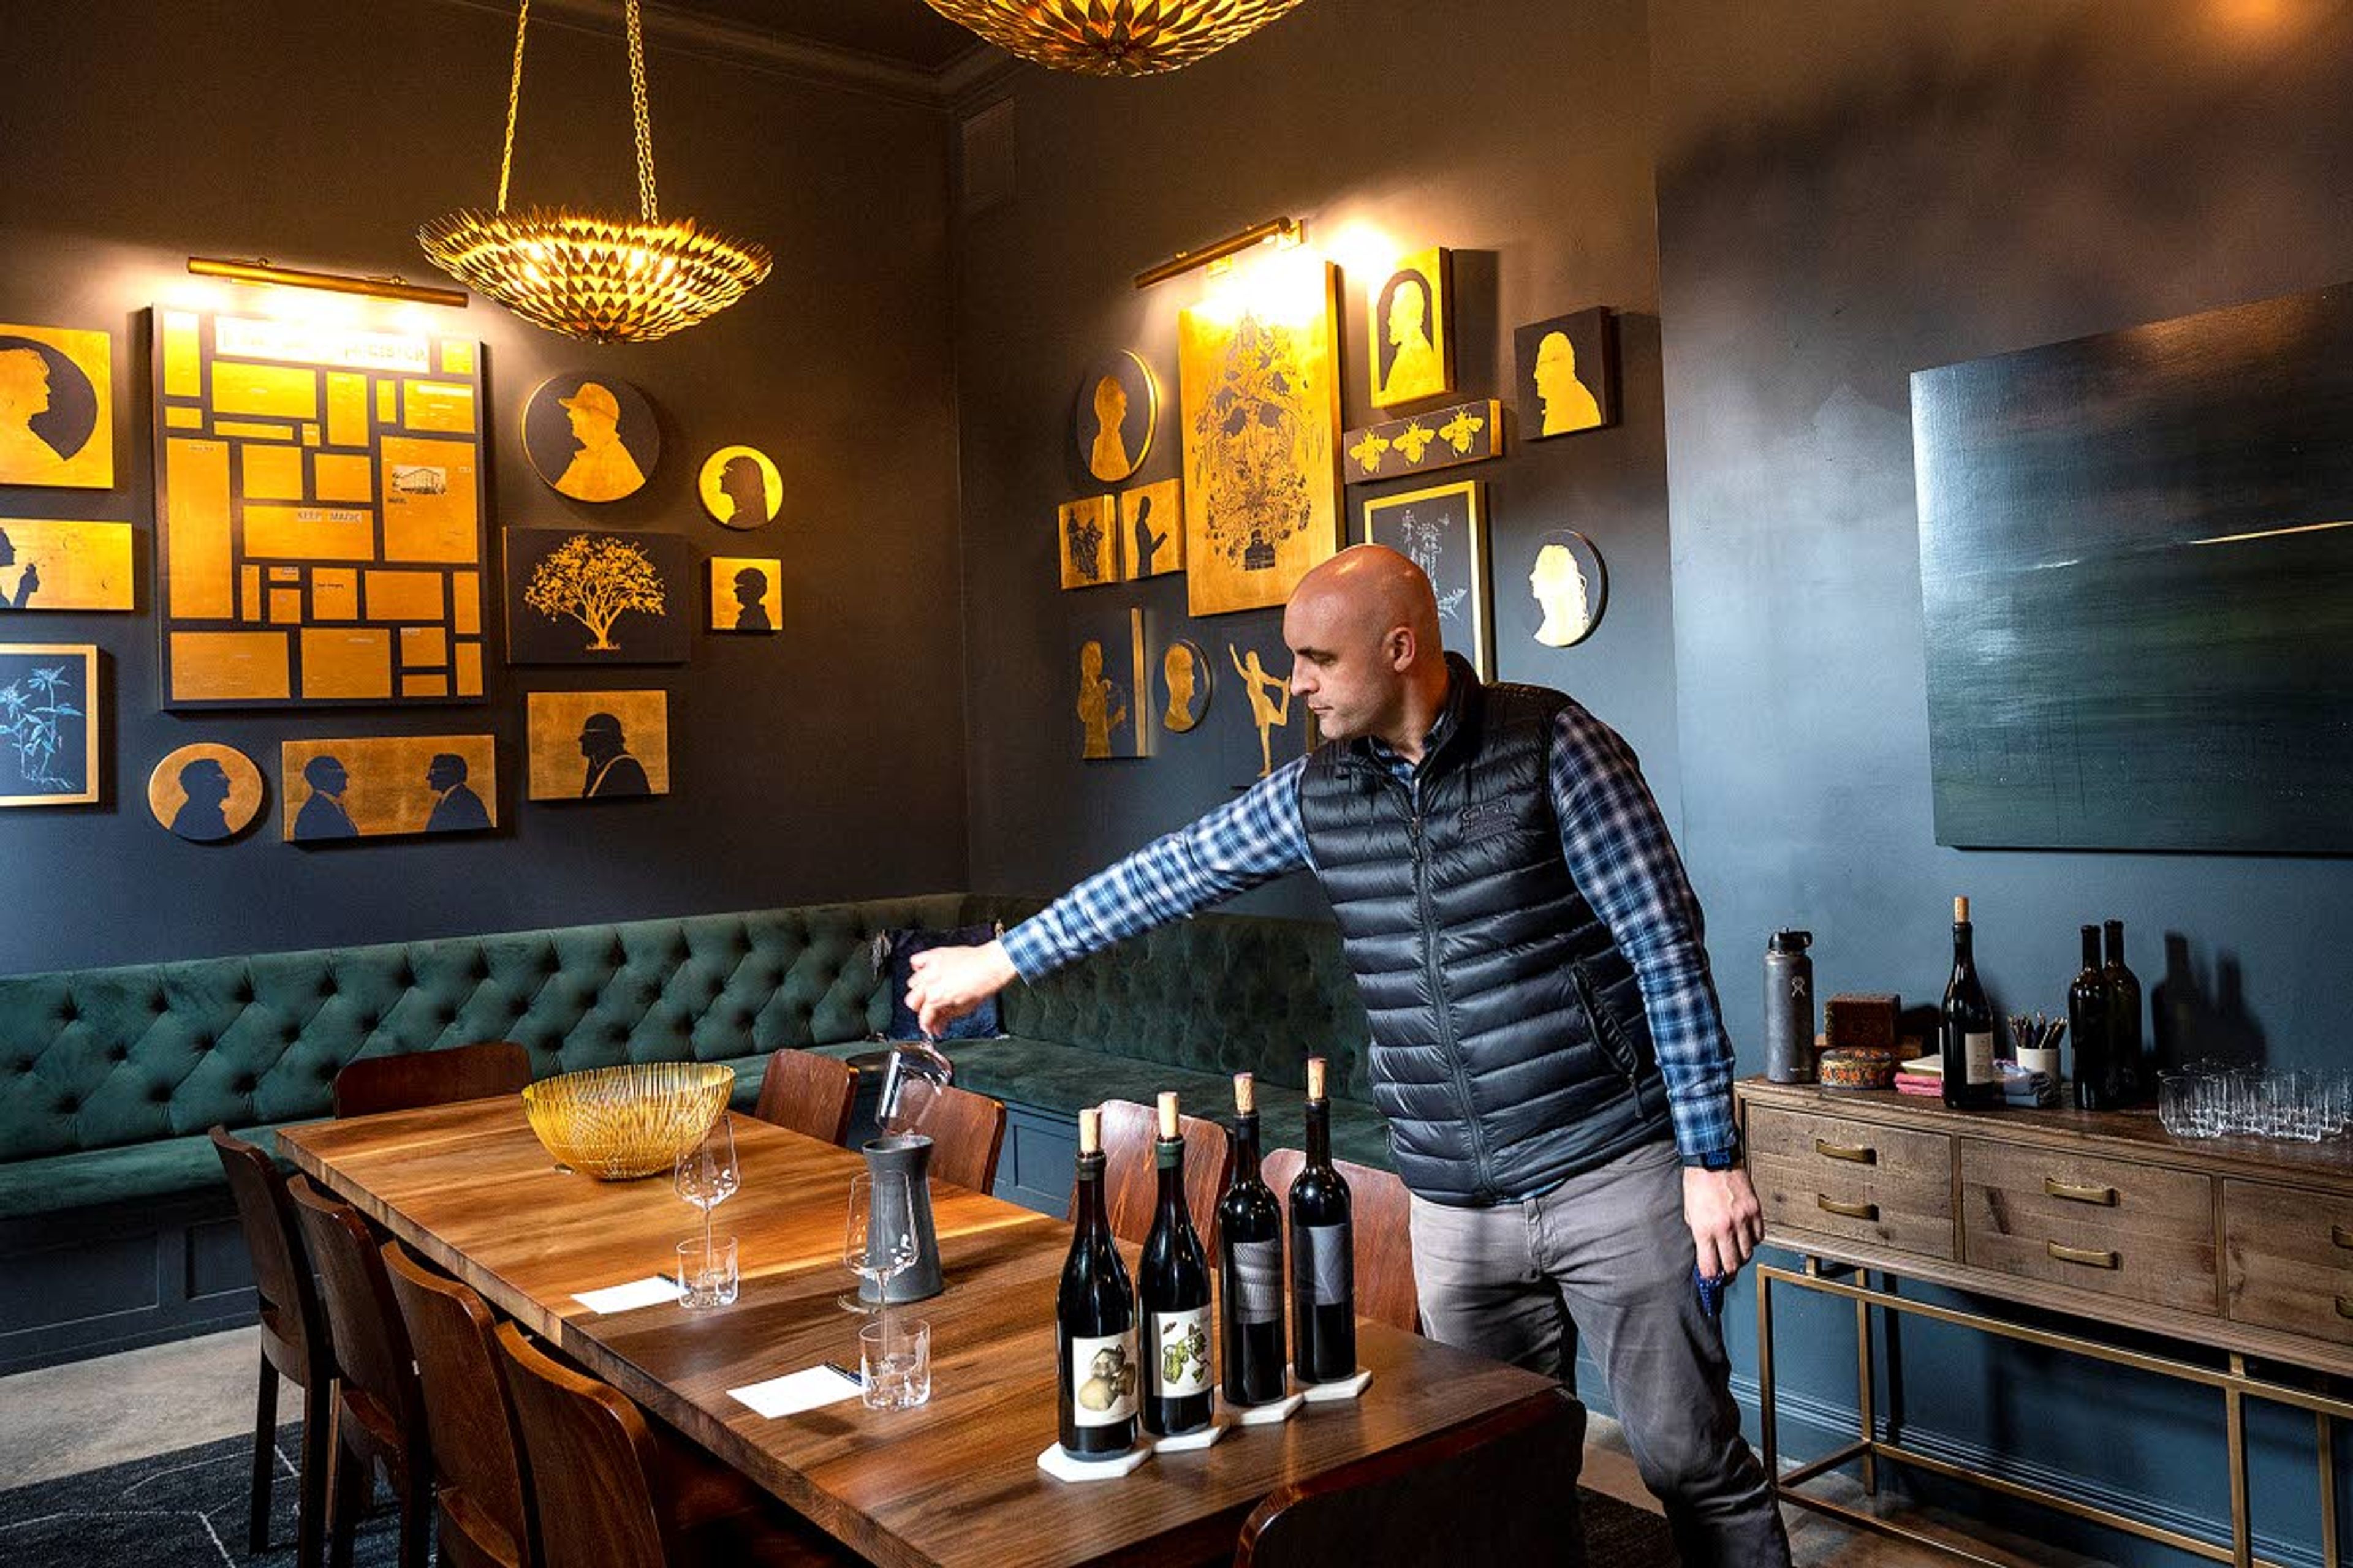
[{"label": "blue and white plaid shirt under the man's puffer vest", "polygon": [[[1414,785],[1414,766],[1405,757],[1379,741],[1372,748]],[[1007,931],[1005,957],[1024,980],[1035,980],[1285,872],[1313,870],[1299,816],[1304,771],[1306,757],[1292,759],[1238,799],[1087,877]],[[1720,1164],[1739,1145],[1732,1126],[1732,1041],[1708,976],[1699,898],[1682,875],[1682,856],[1642,783],[1633,748],[1577,703],[1553,729],[1551,780],[1560,853],[1577,891],[1609,924],[1642,987],[1675,1150],[1685,1164]]]}]

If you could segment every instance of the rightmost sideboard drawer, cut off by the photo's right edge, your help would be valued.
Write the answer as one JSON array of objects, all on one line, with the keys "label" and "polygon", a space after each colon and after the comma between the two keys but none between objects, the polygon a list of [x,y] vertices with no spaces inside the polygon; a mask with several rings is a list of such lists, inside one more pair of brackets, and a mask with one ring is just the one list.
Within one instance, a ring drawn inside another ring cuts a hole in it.
[{"label": "rightmost sideboard drawer, cut off by the photo's right edge", "polygon": [[2353,1345],[2353,1201],[2226,1180],[2221,1248],[2235,1321]]}]

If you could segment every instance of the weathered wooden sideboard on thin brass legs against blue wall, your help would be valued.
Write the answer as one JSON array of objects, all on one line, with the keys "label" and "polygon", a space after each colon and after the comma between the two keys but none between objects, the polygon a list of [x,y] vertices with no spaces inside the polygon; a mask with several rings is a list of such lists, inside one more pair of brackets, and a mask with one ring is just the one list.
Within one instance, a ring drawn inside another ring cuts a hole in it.
[{"label": "weathered wooden sideboard on thin brass legs against blue wall", "polygon": [[[2329,1422],[2353,1418],[2353,1403],[2315,1392],[2313,1378],[2280,1380],[2249,1361],[2353,1375],[2353,1143],[2174,1138],[2155,1112],[2141,1110],[1948,1110],[1894,1091],[1762,1079],[1741,1081],[1737,1098],[1748,1175],[1765,1206],[1765,1239],[1805,1258],[1802,1272],[1758,1272],[1767,1462],[1774,1462],[1772,1288],[1788,1284],[1857,1302],[1859,1441],[1781,1472],[1786,1500],[1849,1516],[1798,1490],[1805,1479],[1849,1460],[1864,1462],[1866,1488],[1875,1488],[1873,1465],[1882,1458],[1955,1474],[1875,1434],[1871,1312],[1915,1312],[2217,1389],[2233,1469],[2228,1547],[1991,1481],[2009,1495],[2214,1561],[2254,1563],[2242,1399],[2311,1410],[2322,1474],[2322,1559],[2337,1563]],[[1824,1262],[1852,1265],[1859,1274],[1838,1279],[1824,1274]],[[1882,1281],[1873,1286],[1871,1274]],[[1889,1291],[1885,1276],[2078,1314],[2089,1319],[2089,1333],[1908,1300]],[[2092,1326],[2177,1338],[2226,1352],[2226,1361],[2118,1347]]]}]

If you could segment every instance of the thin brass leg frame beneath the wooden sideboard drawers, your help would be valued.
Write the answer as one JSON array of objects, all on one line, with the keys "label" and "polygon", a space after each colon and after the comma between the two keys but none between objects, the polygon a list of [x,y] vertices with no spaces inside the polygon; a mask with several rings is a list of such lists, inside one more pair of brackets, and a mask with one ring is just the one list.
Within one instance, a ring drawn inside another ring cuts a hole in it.
[{"label": "thin brass leg frame beneath the wooden sideboard drawers", "polygon": [[[1871,1284],[1871,1274],[1880,1276],[1880,1284]],[[1765,1474],[1774,1479],[1774,1493],[1781,1502],[1812,1509],[1817,1514],[1828,1514],[1861,1530],[1875,1535],[1889,1535],[1920,1547],[1932,1547],[1946,1556],[1960,1559],[1965,1563],[1981,1563],[1984,1568],[2005,1568],[1998,1559],[1979,1556],[1965,1547],[1955,1547],[1918,1528],[1904,1526],[1894,1519],[1880,1519],[1857,1507],[1833,1502],[1828,1497],[1817,1497],[1812,1493],[1798,1490],[1802,1483],[1828,1474],[1852,1460],[1861,1460],[1864,1493],[1878,1495],[1878,1462],[1892,1460],[1897,1465],[1911,1465],[1913,1469],[1925,1469],[1929,1474],[1944,1476],[1948,1481],[1967,1481],[1984,1486],[1988,1490],[2002,1493],[2005,1497],[2019,1497],[2026,1502],[2040,1502],[2042,1507],[2073,1514],[2075,1519],[2089,1519],[2144,1540],[2162,1542],[2179,1552],[2202,1556],[2217,1563],[2233,1563],[2233,1568],[2280,1568],[2268,1559],[2254,1556],[2252,1516],[2247,1505],[2247,1401],[2261,1399],[2268,1403],[2294,1406],[2299,1410],[2313,1413],[2315,1443],[2320,1450],[2320,1561],[2325,1568],[2339,1568],[2341,1559],[2337,1554],[2337,1450],[2332,1443],[2332,1425],[2337,1418],[2353,1420],[2353,1403],[2337,1399],[2332,1394],[2315,1394],[2299,1389],[2271,1378],[2259,1378],[2247,1371],[2247,1356],[2231,1352],[2228,1368],[2217,1371],[2212,1366],[2198,1366],[2193,1361],[2179,1361],[2174,1356],[2158,1356],[2137,1349],[2122,1349],[2118,1345],[2104,1345],[2099,1340],[2059,1333],[2052,1328],[2031,1328],[2026,1324],[2012,1324],[2007,1319],[1988,1316],[1984,1312],[1967,1312],[1960,1307],[1939,1307],[1925,1300],[1911,1300],[1897,1295],[1887,1288],[1887,1269],[1864,1269],[1854,1272],[1854,1281],[1831,1279],[1821,1272],[1819,1258],[1805,1258],[1805,1269],[1786,1269],[1779,1265],[1760,1262],[1758,1272],[1758,1427],[1762,1434],[1765,1450]],[[1854,1302],[1854,1403],[1859,1420],[1859,1439],[1826,1453],[1817,1460],[1807,1460],[1781,1472],[1779,1448],[1774,1441],[1774,1371],[1772,1371],[1772,1288],[1774,1284],[1795,1286],[1800,1291],[1814,1291],[1821,1295],[1840,1295]],[[1927,1453],[1906,1448],[1904,1443],[1878,1436],[1878,1392],[1871,1375],[1871,1312],[1908,1312],[1913,1316],[1925,1316],[1937,1324],[1955,1324],[1960,1328],[1974,1328],[1979,1333],[1991,1333],[2005,1340],[2019,1340],[2026,1345],[2040,1345],[2045,1349],[2061,1349],[2078,1356],[2089,1356],[2094,1361],[2108,1361],[2113,1366],[2132,1366],[2144,1373],[2155,1373],[2160,1378],[2174,1378],[2179,1382],[2193,1382],[2209,1387],[2221,1394],[2224,1401],[2224,1427],[2231,1462],[2231,1544],[2219,1547],[2214,1542],[2200,1540],[2195,1535],[2184,1535],[2181,1530],[2169,1530],[2165,1526],[2137,1519],[2132,1514],[2120,1514],[2115,1509],[2104,1509],[2089,1502],[2078,1502],[2064,1497],[2054,1490],[2012,1481],[2007,1476],[1981,1474],[1948,1460],[1939,1460]]]}]

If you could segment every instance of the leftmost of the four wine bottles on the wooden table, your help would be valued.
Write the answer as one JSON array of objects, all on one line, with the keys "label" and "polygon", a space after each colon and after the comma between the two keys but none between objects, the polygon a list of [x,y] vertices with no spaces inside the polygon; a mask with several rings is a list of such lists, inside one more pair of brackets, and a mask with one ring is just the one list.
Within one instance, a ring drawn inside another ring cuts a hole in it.
[{"label": "leftmost of the four wine bottles on the wooden table", "polygon": [[1104,1218],[1104,1128],[1078,1112],[1078,1229],[1054,1300],[1061,1450],[1113,1460],[1136,1446],[1136,1293]]}]

